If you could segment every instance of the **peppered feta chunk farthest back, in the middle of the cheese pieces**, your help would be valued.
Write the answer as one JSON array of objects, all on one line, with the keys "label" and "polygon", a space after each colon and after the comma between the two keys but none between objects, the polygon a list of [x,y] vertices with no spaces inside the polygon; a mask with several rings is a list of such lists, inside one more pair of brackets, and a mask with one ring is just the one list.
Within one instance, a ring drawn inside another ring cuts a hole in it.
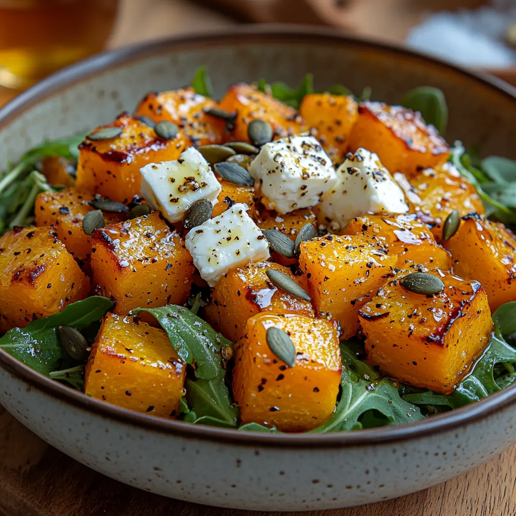
[{"label": "peppered feta chunk farthest back, in the middle of the cheese pieces", "polygon": [[316,205],[336,182],[331,159],[313,136],[266,143],[249,165],[262,203],[285,214]]}]

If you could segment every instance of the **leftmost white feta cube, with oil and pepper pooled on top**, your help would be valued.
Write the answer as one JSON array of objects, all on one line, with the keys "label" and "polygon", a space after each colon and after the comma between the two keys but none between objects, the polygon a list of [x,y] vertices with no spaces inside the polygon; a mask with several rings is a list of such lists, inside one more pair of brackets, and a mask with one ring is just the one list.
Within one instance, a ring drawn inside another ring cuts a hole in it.
[{"label": "leftmost white feta cube, with oil and pepper pooled on top", "polygon": [[179,222],[199,199],[217,204],[222,190],[208,162],[193,147],[182,152],[179,159],[149,163],[140,172],[141,195],[169,222]]}]

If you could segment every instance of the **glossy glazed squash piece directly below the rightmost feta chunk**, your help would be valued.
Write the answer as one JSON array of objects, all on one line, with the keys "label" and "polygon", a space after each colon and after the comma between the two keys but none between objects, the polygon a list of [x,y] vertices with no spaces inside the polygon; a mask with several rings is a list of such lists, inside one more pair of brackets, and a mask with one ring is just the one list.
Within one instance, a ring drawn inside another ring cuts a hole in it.
[{"label": "glossy glazed squash piece directly below the rightmost feta chunk", "polygon": [[397,254],[396,267],[402,269],[406,261],[430,268],[450,270],[451,255],[437,244],[426,224],[415,213],[364,215],[355,217],[344,228],[346,235],[375,237],[389,254]]}]

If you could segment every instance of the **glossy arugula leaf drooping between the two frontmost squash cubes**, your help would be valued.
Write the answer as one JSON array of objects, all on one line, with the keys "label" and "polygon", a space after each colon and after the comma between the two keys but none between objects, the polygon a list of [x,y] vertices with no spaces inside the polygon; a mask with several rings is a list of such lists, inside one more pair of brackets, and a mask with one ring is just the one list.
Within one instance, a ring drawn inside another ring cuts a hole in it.
[{"label": "glossy arugula leaf drooping between the two frontmost squash cubes", "polygon": [[[148,312],[157,319],[175,351],[195,367],[196,379],[186,380],[188,410],[195,413],[194,422],[213,424],[217,420],[219,426],[235,427],[238,410],[231,403],[220,356],[221,348],[232,343],[184,307],[170,304],[138,308],[132,314],[141,312]],[[189,420],[191,418],[189,416]],[[186,421],[186,417],[184,419]]]}]

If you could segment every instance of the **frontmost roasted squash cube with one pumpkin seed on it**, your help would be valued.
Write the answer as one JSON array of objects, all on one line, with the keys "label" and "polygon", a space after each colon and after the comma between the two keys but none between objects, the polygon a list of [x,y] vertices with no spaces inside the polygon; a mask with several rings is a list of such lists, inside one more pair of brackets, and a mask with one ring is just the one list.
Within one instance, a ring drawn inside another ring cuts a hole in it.
[{"label": "frontmost roasted squash cube with one pumpkin seed on it", "polygon": [[[267,344],[267,329],[286,332],[296,349],[289,367]],[[244,423],[304,432],[332,415],[341,381],[335,322],[302,315],[260,314],[249,319],[235,346],[233,392]]]}]

